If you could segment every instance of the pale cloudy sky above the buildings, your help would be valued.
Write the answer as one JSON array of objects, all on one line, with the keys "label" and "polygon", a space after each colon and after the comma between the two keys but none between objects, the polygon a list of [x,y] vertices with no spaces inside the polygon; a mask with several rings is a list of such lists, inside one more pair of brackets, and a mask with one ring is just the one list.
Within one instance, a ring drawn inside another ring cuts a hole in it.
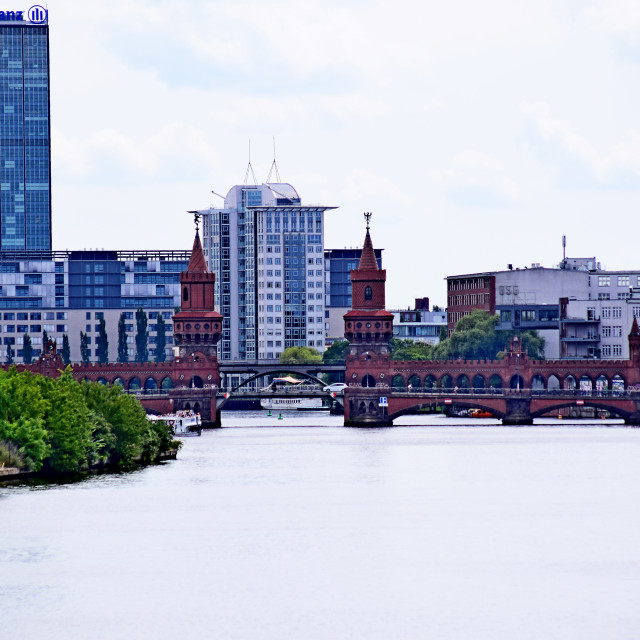
[{"label": "pale cloudy sky above the buildings", "polygon": [[[19,8],[19,7],[16,7]],[[27,6],[25,5],[25,9]],[[275,157],[387,307],[448,275],[640,269],[635,0],[51,0],[54,249],[185,249]],[[249,142],[250,141],[250,142]]]}]

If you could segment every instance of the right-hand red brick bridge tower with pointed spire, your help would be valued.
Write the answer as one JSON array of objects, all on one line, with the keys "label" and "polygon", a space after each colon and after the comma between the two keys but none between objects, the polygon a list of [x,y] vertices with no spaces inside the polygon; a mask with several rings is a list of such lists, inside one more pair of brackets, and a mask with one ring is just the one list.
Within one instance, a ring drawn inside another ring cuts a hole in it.
[{"label": "right-hand red brick bridge tower with pointed spire", "polygon": [[[378,267],[369,232],[370,213],[364,214],[367,233],[357,269],[351,271],[351,310],[344,315],[345,338],[349,340],[346,382],[370,393],[345,401],[345,424],[385,423],[379,407],[377,385],[390,384],[389,341],[393,337],[393,314],[385,310],[387,272]],[[366,397],[365,397],[366,396]],[[391,422],[389,422],[391,424]]]}]

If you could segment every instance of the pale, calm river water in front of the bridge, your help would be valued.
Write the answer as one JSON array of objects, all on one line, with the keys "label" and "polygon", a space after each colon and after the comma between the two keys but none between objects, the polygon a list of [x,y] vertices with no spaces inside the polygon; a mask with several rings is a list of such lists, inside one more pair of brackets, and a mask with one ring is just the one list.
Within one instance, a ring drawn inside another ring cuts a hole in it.
[{"label": "pale, calm river water in front of the bridge", "polygon": [[178,460],[0,488],[2,637],[640,638],[640,429],[224,413]]}]

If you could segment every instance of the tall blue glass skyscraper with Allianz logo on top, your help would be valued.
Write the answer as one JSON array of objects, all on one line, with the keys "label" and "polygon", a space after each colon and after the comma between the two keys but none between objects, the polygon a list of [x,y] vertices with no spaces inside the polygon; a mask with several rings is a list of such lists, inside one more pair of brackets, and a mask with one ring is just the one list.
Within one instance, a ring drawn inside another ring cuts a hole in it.
[{"label": "tall blue glass skyscraper with Allianz logo on top", "polygon": [[36,5],[0,12],[0,251],[49,250],[49,27]]}]

